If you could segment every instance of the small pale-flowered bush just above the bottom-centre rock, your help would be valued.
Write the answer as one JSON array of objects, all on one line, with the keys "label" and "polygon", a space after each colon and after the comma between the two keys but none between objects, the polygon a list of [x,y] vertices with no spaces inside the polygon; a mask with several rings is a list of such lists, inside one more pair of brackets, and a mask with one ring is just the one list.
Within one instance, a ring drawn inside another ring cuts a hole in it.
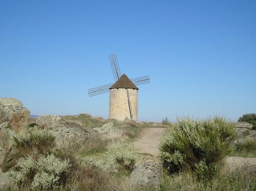
[{"label": "small pale-flowered bush just above the bottom-centre rock", "polygon": [[107,169],[112,172],[134,169],[139,160],[136,150],[128,143],[115,143],[106,154]]}]

